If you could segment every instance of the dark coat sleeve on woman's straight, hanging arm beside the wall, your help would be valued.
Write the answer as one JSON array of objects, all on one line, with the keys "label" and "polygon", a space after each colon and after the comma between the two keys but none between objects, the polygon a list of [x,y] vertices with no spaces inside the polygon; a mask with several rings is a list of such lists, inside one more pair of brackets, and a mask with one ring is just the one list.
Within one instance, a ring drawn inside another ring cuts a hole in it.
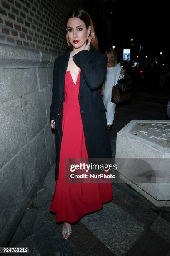
[{"label": "dark coat sleeve on woman's straight, hanging arm beside the wall", "polygon": [[53,87],[52,87],[52,102],[50,106],[50,122],[55,118],[55,113],[58,108],[59,99],[59,90],[57,84],[57,59],[54,62],[54,70],[53,70]]}]

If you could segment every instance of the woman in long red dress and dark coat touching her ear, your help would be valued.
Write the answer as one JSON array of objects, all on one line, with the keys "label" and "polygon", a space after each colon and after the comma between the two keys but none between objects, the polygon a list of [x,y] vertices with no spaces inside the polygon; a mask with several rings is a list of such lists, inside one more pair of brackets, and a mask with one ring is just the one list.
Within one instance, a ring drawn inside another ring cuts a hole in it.
[{"label": "woman in long red dress and dark coat touching her ear", "polygon": [[57,222],[64,222],[62,236],[65,239],[72,232],[70,223],[102,209],[103,203],[113,198],[111,183],[67,183],[65,180],[65,159],[112,157],[105,108],[100,97],[107,59],[105,54],[98,52],[92,20],[84,10],[71,10],[66,31],[67,44],[73,47],[55,61],[50,111],[52,128],[54,118],[56,120],[57,158],[57,180],[50,210],[56,212]]}]

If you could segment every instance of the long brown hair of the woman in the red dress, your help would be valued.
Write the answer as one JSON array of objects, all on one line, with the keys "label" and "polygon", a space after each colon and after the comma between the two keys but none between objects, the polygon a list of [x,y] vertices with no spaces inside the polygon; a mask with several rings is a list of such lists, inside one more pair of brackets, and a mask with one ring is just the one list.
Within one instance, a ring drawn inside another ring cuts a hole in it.
[{"label": "long brown hair of the woman in the red dress", "polygon": [[[94,26],[93,26],[93,23],[92,23],[92,19],[90,18],[90,15],[85,10],[82,10],[80,8],[73,8],[70,11],[70,13],[68,13],[68,15],[67,15],[66,24],[67,24],[67,21],[69,20],[69,18],[74,18],[74,17],[79,18],[80,20],[82,20],[85,23],[85,26],[86,26],[87,29],[88,29],[89,26],[91,26],[91,31],[90,31],[90,35],[91,35],[91,38],[92,38],[91,44],[98,51],[99,49],[98,49],[97,37],[95,35]],[[67,28],[67,25],[66,25],[66,28]],[[70,41],[69,41],[69,38],[68,38],[67,34],[66,34],[66,40],[67,40],[67,45],[69,47],[71,47],[72,45],[70,44]]]}]

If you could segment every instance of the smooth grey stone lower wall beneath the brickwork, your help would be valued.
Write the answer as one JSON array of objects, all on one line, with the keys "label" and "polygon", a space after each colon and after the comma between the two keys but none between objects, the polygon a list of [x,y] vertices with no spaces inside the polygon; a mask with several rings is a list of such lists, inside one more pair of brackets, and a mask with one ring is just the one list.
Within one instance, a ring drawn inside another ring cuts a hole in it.
[{"label": "smooth grey stone lower wall beneath the brickwork", "polygon": [[8,244],[55,161],[50,128],[55,58],[0,44],[0,246]]}]

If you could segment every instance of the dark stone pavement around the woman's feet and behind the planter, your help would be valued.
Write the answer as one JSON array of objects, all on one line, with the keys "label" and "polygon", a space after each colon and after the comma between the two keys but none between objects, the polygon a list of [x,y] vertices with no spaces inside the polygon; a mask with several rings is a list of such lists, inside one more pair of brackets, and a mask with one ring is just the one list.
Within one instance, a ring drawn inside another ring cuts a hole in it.
[{"label": "dark stone pavement around the woman's feet and behind the planter", "polygon": [[[110,130],[113,156],[116,133],[130,120],[165,117],[166,98],[152,103],[135,97],[132,103],[117,107]],[[156,207],[125,183],[112,187],[112,202],[72,225],[73,232],[65,240],[62,224],[56,224],[55,214],[50,212],[55,188],[53,165],[7,246],[29,247],[30,255],[45,256],[170,256],[170,207]]]}]

